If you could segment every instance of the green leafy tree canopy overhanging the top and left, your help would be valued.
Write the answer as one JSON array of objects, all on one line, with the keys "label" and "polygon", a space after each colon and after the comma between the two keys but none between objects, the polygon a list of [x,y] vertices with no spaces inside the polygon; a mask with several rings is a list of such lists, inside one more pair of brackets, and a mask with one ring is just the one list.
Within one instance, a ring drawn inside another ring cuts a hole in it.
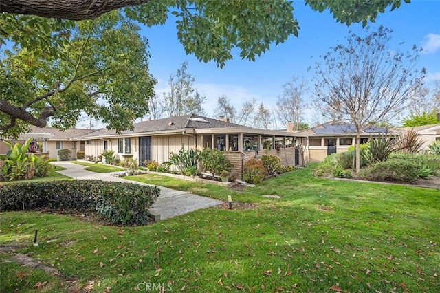
[{"label": "green leafy tree canopy overhanging the top and left", "polygon": [[[306,3],[349,25],[375,21],[401,0]],[[80,110],[109,128],[130,129],[148,113],[154,84],[135,23],[162,25],[174,14],[186,53],[219,67],[234,48],[254,61],[300,29],[285,0],[14,0],[1,1],[0,12],[0,46],[13,44],[1,55],[3,136],[17,136],[29,124],[43,127],[51,117],[56,127],[72,127]]]}]

